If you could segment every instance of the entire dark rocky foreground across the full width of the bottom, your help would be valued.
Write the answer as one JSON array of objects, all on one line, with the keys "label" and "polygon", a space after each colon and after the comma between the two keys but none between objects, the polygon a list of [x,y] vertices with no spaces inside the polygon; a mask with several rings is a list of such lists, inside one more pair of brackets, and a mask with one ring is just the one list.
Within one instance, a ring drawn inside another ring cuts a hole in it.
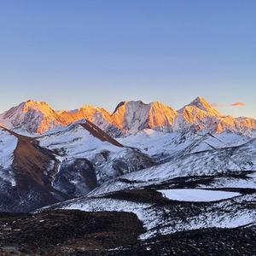
[{"label": "entire dark rocky foreground across the full width of the bottom", "polygon": [[0,255],[255,255],[256,228],[186,230],[140,241],[128,212],[0,214]]}]

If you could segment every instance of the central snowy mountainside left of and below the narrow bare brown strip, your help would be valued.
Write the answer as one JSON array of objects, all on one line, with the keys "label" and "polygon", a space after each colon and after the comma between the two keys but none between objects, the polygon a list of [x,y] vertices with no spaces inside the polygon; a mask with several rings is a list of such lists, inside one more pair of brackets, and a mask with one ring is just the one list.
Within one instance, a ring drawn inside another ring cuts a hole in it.
[{"label": "central snowy mountainside left of and below the narrow bare brown strip", "polygon": [[116,146],[117,142],[114,143],[114,140],[102,141],[80,123],[51,131],[38,137],[38,141],[42,147],[60,154],[65,161],[90,160],[96,168],[98,183],[127,172],[154,166],[154,160],[147,154],[136,148]]}]

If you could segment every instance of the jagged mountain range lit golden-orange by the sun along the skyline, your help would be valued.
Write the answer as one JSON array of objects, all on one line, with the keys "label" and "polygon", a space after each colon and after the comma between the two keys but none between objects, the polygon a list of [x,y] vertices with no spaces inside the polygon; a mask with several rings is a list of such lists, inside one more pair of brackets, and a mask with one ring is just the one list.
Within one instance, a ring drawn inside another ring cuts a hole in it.
[{"label": "jagged mountain range lit golden-orange by the sun along the skyline", "polygon": [[55,111],[45,102],[29,100],[0,114],[0,124],[9,129],[42,134],[56,127],[86,119],[112,137],[134,134],[144,129],[156,131],[233,131],[246,136],[255,134],[256,121],[249,118],[224,116],[203,97],[176,111],[161,102],[120,102],[114,112],[84,105],[73,111]]}]

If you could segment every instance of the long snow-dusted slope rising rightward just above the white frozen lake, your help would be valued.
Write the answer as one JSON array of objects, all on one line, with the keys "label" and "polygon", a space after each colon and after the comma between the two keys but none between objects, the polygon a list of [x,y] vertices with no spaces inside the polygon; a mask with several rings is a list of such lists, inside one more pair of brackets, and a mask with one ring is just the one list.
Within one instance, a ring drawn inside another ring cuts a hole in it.
[{"label": "long snow-dusted slope rising rightward just above the white frozen lake", "polygon": [[[232,177],[232,175],[241,172],[253,172],[256,170],[255,148],[256,140],[253,139],[236,147],[209,149],[187,154],[185,151],[185,154],[164,164],[123,175],[111,181],[111,183],[103,183],[102,186],[92,191],[90,196],[166,183],[176,177],[217,175]],[[252,178],[255,179],[255,177]],[[247,177],[245,177],[245,180],[250,182]]]}]

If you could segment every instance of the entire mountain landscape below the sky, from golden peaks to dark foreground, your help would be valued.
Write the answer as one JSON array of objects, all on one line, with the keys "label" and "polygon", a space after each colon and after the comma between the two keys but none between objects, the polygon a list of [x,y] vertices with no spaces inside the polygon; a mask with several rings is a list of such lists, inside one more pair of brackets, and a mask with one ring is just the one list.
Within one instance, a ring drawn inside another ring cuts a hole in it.
[{"label": "entire mountain landscape below the sky, from golden peaks to dark foreground", "polygon": [[199,96],[113,113],[29,100],[0,124],[0,254],[253,255],[255,119]]}]

